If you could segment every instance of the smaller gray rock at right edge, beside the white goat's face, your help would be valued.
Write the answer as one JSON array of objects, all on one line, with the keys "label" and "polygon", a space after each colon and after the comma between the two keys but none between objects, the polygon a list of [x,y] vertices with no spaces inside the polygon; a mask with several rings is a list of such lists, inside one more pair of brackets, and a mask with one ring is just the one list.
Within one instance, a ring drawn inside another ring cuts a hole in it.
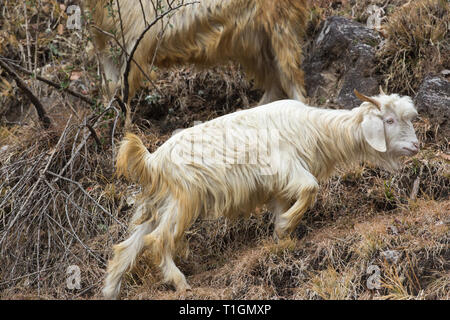
[{"label": "smaller gray rock at right edge, beside the white goat's face", "polygon": [[427,76],[414,103],[419,114],[430,117],[444,135],[450,135],[450,81],[440,76]]}]

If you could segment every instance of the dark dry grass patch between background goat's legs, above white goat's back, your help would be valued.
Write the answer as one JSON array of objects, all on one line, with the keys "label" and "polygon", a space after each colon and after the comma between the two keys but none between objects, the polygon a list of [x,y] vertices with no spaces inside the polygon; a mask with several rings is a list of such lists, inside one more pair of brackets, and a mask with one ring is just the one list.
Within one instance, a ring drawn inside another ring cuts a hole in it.
[{"label": "dark dry grass patch between background goat's legs, above white goat's back", "polygon": [[231,64],[203,71],[180,67],[157,74],[156,88],[148,87],[134,99],[133,119],[140,128],[157,125],[162,134],[254,106],[262,97]]}]

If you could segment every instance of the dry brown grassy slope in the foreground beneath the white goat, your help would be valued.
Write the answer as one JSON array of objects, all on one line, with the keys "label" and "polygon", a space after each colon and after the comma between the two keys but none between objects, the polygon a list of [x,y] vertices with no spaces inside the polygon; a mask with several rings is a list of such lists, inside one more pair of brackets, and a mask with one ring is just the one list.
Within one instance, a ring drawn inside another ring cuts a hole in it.
[{"label": "dry brown grassy slope in the foreground beneath the white goat", "polygon": [[[300,240],[278,244],[270,232],[257,232],[265,229],[265,215],[250,220],[247,241],[239,236],[242,224],[226,227],[218,237],[208,224],[198,223],[195,233],[213,235],[191,237],[191,253],[181,263],[193,290],[171,291],[143,264],[135,278],[143,282],[128,281],[126,298],[447,299],[449,209],[448,201],[419,201],[417,209],[366,218],[352,228],[343,219],[328,221]],[[236,237],[232,244],[230,234]],[[388,250],[398,253],[398,261],[386,260]],[[379,289],[367,287],[370,265],[380,270]]]}]

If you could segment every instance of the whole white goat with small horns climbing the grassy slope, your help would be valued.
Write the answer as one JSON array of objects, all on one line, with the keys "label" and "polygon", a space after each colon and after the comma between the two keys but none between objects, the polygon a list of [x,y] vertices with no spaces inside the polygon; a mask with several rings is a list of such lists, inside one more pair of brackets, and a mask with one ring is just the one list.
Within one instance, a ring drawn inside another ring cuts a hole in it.
[{"label": "whole white goat with small horns climbing the grassy slope", "polygon": [[[353,110],[325,110],[281,100],[235,112],[177,133],[154,153],[127,134],[119,175],[139,182],[142,195],[132,235],[114,247],[103,294],[116,298],[122,275],[149,248],[165,281],[189,289],[172,256],[199,216],[235,217],[269,203],[282,237],[314,203],[318,181],[338,164],[369,160],[388,169],[418,152],[409,97],[366,97]],[[264,130],[260,130],[264,128]]]}]

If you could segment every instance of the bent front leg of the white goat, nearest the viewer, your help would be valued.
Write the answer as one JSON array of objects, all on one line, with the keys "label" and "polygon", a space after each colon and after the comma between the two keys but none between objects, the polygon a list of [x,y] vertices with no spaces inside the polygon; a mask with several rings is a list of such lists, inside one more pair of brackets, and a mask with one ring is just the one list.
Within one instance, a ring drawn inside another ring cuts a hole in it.
[{"label": "bent front leg of the white goat, nearest the viewer", "polygon": [[314,178],[300,187],[295,203],[275,218],[276,238],[285,237],[297,227],[303,214],[314,204],[318,188],[319,186]]}]

